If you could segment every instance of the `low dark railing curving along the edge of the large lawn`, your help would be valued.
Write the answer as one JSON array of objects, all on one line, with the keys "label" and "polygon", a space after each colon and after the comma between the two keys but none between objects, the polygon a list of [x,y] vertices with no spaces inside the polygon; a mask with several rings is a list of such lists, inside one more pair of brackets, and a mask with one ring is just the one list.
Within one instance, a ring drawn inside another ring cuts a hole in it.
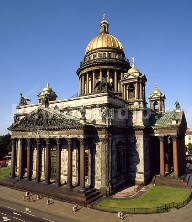
[{"label": "low dark railing curving along the edge of the large lawn", "polygon": [[[191,201],[192,195],[190,194],[189,197],[179,203],[168,203],[168,204],[163,204],[163,205],[159,205],[157,207],[151,207],[151,208],[126,208],[126,209],[122,209],[121,210],[124,213],[127,214],[150,214],[150,213],[163,213],[163,212],[168,212],[170,211],[171,208],[181,208],[186,206],[190,201]],[[111,207],[110,209],[101,209],[97,206],[94,206],[93,208],[101,210],[101,211],[107,211],[107,212],[111,212],[111,213],[116,213],[118,210]]]}]

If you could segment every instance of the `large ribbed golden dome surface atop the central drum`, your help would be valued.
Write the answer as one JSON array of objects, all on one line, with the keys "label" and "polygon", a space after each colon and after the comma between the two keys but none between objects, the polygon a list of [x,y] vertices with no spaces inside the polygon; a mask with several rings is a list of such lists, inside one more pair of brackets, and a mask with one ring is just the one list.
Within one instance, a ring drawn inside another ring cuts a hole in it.
[{"label": "large ribbed golden dome surface atop the central drum", "polygon": [[116,37],[108,33],[101,33],[93,38],[87,45],[86,53],[99,48],[115,48],[122,50],[123,46]]}]

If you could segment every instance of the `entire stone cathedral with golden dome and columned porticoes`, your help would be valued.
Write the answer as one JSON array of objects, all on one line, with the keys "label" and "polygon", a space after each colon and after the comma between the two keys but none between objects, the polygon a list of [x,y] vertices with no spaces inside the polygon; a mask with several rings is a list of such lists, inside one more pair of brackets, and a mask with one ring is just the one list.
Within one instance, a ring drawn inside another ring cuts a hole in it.
[{"label": "entire stone cathedral with golden dome and columned porticoes", "polygon": [[[125,184],[185,170],[187,123],[179,102],[165,112],[158,86],[126,58],[104,17],[77,69],[79,94],[57,100],[47,83],[28,104],[21,94],[12,133],[11,177],[111,195]],[[147,106],[149,104],[149,107]]]}]

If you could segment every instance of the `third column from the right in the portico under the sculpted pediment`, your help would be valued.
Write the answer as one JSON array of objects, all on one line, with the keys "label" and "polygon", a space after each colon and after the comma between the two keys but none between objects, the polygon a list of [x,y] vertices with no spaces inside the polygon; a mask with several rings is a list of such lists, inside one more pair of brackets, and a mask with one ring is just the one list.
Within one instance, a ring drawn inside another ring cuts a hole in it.
[{"label": "third column from the right in the portico under the sculpted pediment", "polygon": [[57,142],[57,159],[56,159],[56,185],[61,185],[61,140],[56,139]]}]

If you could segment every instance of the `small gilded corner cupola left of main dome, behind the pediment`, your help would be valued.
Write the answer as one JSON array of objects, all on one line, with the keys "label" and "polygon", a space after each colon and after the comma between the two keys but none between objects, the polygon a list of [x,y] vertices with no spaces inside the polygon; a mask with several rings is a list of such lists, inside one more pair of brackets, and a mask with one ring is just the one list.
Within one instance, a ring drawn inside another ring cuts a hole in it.
[{"label": "small gilded corner cupola left of main dome, behind the pediment", "polygon": [[45,86],[45,88],[38,93],[38,101],[39,103],[43,103],[45,97],[48,99],[48,101],[54,101],[57,98],[56,93],[50,88],[49,83]]}]

